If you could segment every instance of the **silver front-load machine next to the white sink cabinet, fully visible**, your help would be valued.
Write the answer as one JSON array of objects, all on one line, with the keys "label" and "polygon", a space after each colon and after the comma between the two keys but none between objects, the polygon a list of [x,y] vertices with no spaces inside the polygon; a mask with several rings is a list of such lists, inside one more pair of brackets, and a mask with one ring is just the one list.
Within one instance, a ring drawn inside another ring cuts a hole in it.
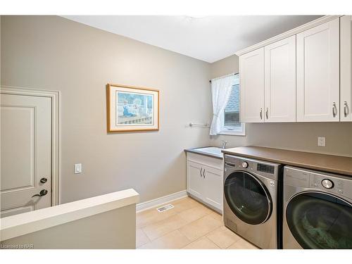
[{"label": "silver front-load machine next to the white sink cabinet, fully visible", "polygon": [[225,226],[261,249],[280,248],[281,179],[277,163],[225,155]]}]

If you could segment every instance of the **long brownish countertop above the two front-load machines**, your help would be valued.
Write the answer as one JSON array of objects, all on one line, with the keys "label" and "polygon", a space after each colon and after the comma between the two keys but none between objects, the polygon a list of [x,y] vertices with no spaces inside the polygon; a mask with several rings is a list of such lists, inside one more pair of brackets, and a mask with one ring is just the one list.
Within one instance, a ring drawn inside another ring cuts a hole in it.
[{"label": "long brownish countertop above the two front-load machines", "polygon": [[272,149],[263,146],[239,146],[223,149],[222,153],[352,176],[352,157]]}]

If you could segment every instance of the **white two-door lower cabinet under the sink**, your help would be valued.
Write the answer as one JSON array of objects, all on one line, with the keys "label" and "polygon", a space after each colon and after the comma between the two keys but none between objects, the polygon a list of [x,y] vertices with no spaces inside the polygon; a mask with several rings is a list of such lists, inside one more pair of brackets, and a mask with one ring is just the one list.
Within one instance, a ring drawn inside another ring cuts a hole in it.
[{"label": "white two-door lower cabinet under the sink", "polygon": [[187,153],[187,192],[222,213],[222,160]]}]

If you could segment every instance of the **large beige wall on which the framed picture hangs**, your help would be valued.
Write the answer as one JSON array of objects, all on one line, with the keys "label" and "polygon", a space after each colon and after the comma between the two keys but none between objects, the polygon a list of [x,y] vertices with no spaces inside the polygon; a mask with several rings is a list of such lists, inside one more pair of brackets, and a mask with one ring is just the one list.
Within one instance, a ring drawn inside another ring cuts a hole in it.
[{"label": "large beige wall on which the framed picture hangs", "polygon": [[[57,16],[1,16],[1,65],[2,85],[61,91],[61,202],[186,189],[183,150],[209,144],[186,125],[209,120],[210,64]],[[108,82],[160,89],[160,131],[107,134]]]}]

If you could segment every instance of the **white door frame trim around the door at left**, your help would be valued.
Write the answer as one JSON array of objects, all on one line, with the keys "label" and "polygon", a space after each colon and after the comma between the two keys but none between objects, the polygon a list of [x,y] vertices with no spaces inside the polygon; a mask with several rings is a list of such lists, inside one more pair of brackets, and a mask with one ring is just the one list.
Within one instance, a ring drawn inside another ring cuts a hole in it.
[{"label": "white door frame trim around the door at left", "polygon": [[0,94],[49,97],[51,99],[51,206],[61,203],[61,92],[1,85]]}]

